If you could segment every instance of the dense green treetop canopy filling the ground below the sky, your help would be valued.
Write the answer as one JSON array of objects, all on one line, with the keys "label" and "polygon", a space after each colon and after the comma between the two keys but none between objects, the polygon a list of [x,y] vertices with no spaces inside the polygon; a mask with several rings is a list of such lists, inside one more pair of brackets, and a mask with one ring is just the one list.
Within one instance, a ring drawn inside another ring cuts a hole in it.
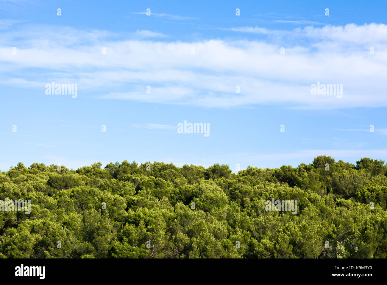
[{"label": "dense green treetop canopy filling the ground below the sky", "polygon": [[[0,200],[31,200],[31,213],[0,211],[0,257],[386,258],[386,173],[384,161],[327,156],[238,174],[19,163],[0,173]],[[266,211],[272,198],[297,200],[297,214]]]}]

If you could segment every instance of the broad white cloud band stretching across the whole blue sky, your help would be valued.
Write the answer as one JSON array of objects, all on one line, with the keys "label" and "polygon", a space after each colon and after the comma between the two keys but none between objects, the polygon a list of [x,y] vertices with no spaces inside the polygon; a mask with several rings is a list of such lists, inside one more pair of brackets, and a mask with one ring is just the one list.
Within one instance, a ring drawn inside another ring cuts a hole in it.
[{"label": "broad white cloud band stretching across the whole blue sky", "polygon": [[[0,84],[41,88],[44,92],[45,84],[51,81],[77,83],[80,96],[90,91],[105,99],[204,107],[387,106],[385,24],[292,31],[252,29],[283,37],[283,42],[126,40],[125,35],[108,31],[42,26],[19,33],[0,32],[4,39],[0,45]],[[308,41],[298,45],[295,38]],[[14,45],[17,55],[12,54]],[[281,46],[285,54],[280,54]],[[101,54],[101,47],[106,47],[106,55]],[[195,54],[191,54],[192,47]],[[370,47],[375,51],[372,55]],[[33,74],[29,68],[34,68]],[[311,95],[310,85],[317,81],[342,84],[342,98]],[[151,86],[151,93],[146,93],[146,86]],[[235,92],[236,86],[240,86],[240,93]]]}]

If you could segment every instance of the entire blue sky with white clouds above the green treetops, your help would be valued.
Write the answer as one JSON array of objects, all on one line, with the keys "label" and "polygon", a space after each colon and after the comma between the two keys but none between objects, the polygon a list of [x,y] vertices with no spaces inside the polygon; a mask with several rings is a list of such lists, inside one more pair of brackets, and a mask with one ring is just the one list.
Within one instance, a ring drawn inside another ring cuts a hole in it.
[{"label": "entire blue sky with white clouds above the green treetops", "polygon": [[[387,161],[386,8],[0,0],[0,169]],[[46,94],[52,81],[76,84],[77,97]],[[342,97],[312,95],[317,82],[342,85]],[[209,136],[178,133],[184,121],[209,124]]]}]

